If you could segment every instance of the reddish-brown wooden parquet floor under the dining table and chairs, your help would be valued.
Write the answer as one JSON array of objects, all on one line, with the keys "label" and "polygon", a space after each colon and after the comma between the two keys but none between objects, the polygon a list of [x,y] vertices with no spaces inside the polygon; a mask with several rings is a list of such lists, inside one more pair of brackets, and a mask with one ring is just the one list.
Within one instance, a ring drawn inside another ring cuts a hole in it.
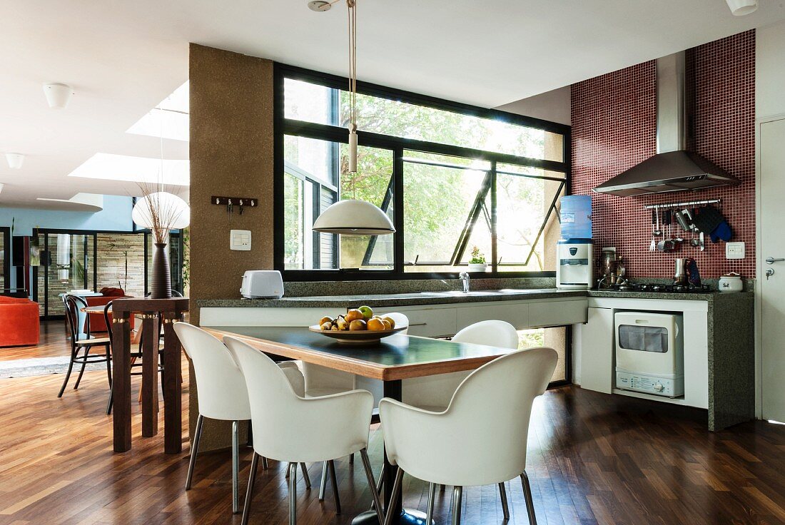
[{"label": "reddish-brown wooden parquet floor under the dining table and chairs", "polygon": [[[228,452],[200,457],[185,493],[188,446],[165,456],[161,436],[141,439],[134,405],[134,448],[112,454],[106,377],[85,377],[62,399],[59,375],[0,380],[0,523],[239,523],[230,513]],[[785,523],[785,427],[750,422],[710,434],[704,419],[698,410],[580,388],[547,392],[536,403],[528,447],[539,523]],[[381,437],[374,429],[377,469]],[[244,450],[243,487],[249,459]],[[287,523],[283,467],[271,467],[260,472],[251,523]],[[321,469],[309,470],[316,487]],[[360,462],[340,461],[337,473],[343,514],[334,515],[329,491],[320,503],[300,483],[298,523],[351,523],[367,508]],[[510,523],[528,523],[520,484],[508,490]],[[424,483],[407,476],[405,491],[405,505],[425,510]],[[437,492],[439,523],[449,523],[450,494]],[[463,516],[467,524],[502,523],[495,487],[467,488]]]}]

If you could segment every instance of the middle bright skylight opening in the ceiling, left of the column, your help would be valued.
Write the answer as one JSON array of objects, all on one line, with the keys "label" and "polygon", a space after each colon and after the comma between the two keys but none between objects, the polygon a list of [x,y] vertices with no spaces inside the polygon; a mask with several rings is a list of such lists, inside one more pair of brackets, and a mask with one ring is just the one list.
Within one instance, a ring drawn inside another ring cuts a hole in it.
[{"label": "middle bright skylight opening in the ceiling, left of the column", "polygon": [[[163,173],[161,173],[162,169]],[[76,170],[68,173],[68,177],[188,186],[191,180],[190,173],[190,162],[187,160],[162,162],[161,159],[148,157],[96,153],[82,162]]]}]

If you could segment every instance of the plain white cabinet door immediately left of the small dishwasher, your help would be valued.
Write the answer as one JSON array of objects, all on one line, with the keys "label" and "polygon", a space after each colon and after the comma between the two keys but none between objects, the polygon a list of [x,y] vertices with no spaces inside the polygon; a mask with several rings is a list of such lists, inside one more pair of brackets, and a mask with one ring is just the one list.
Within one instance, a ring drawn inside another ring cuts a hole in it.
[{"label": "plain white cabinet door immediately left of the small dishwasher", "polygon": [[613,390],[613,309],[588,308],[580,327],[581,388],[610,394]]}]

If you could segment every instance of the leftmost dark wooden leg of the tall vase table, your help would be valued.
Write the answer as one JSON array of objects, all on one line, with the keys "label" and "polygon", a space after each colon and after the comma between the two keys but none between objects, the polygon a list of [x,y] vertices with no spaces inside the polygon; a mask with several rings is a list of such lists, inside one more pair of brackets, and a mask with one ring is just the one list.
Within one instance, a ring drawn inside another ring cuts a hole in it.
[{"label": "leftmost dark wooden leg of the tall vase table", "polygon": [[131,450],[131,334],[128,312],[115,314],[111,321],[112,339],[112,423],[115,452]]}]

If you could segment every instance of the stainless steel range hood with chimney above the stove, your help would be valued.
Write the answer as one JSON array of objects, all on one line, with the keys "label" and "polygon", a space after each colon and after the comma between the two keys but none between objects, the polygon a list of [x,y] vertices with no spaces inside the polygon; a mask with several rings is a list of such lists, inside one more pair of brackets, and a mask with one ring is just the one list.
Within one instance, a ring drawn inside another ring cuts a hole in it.
[{"label": "stainless steel range hood with chimney above the stove", "polygon": [[741,181],[703,156],[685,151],[685,53],[657,59],[657,153],[594,188],[622,197],[737,186]]}]

